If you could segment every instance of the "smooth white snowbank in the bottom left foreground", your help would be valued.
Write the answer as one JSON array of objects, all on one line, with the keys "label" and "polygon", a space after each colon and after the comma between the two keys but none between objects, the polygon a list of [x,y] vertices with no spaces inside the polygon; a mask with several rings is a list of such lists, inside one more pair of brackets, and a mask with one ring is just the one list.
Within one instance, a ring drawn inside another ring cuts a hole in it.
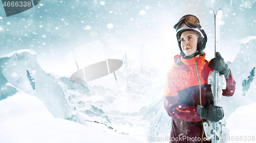
[{"label": "smooth white snowbank in the bottom left foreground", "polygon": [[54,118],[37,97],[22,91],[0,101],[0,142],[140,142]]}]

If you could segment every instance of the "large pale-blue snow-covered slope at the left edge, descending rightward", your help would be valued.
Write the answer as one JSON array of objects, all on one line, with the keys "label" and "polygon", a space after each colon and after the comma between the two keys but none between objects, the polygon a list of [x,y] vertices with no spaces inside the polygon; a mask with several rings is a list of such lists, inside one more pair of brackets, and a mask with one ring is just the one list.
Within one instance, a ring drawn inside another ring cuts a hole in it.
[{"label": "large pale-blue snow-covered slope at the left edge, descending rightward", "polygon": [[[1,56],[0,71],[0,99],[14,95],[17,90],[13,89],[13,86],[38,97],[55,118],[66,119],[72,116],[74,109],[70,106],[68,98],[60,86],[41,69],[35,51],[19,50]],[[34,88],[28,73],[34,80]]]}]

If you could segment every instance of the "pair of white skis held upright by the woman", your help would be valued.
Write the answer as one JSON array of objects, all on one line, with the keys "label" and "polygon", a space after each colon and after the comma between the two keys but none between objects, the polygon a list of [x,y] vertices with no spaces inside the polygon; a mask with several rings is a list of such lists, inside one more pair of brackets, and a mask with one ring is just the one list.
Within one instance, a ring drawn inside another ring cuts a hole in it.
[{"label": "pair of white skis held upright by the woman", "polygon": [[[215,31],[215,57],[217,49],[219,49],[220,42],[220,25],[223,15],[222,9],[219,9],[216,13],[212,10],[214,14],[214,31]],[[226,89],[226,80],[224,75],[219,76],[219,72],[214,70],[214,72],[209,73],[208,84],[211,84],[212,95],[214,96],[214,105],[219,106],[219,101],[222,95],[222,90]],[[227,142],[229,130],[225,128],[225,124],[221,122],[211,122],[206,121],[203,123],[203,128],[207,140],[211,139],[212,143],[225,143]]]}]

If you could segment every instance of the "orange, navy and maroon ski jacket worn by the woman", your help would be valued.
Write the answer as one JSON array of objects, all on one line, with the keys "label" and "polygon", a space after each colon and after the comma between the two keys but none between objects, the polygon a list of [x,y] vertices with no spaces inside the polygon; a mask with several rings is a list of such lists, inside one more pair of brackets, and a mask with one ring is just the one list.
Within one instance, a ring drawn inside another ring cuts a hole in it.
[{"label": "orange, navy and maroon ski jacket worn by the woman", "polygon": [[[167,73],[164,87],[164,108],[172,117],[170,142],[188,142],[183,137],[202,137],[202,121],[197,113],[197,105],[213,105],[214,100],[210,85],[207,83],[209,62],[205,53],[199,57],[184,59],[181,55],[174,57],[174,63]],[[227,87],[223,96],[232,96],[236,88],[232,74],[226,79]],[[205,137],[205,136],[204,136]],[[177,141],[178,140],[178,141]],[[201,141],[198,141],[201,142]]]}]

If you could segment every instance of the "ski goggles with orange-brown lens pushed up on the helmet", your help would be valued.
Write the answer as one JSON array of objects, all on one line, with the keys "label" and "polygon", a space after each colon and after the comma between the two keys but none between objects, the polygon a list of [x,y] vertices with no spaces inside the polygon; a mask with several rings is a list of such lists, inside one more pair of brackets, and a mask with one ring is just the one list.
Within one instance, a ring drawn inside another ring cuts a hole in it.
[{"label": "ski goggles with orange-brown lens pushed up on the helmet", "polygon": [[196,28],[200,25],[200,22],[199,22],[199,19],[194,15],[190,15],[190,14],[185,15],[181,17],[181,19],[177,24],[174,25],[176,32],[179,30],[179,28],[183,24],[186,24],[188,27],[191,27],[191,28]]}]

